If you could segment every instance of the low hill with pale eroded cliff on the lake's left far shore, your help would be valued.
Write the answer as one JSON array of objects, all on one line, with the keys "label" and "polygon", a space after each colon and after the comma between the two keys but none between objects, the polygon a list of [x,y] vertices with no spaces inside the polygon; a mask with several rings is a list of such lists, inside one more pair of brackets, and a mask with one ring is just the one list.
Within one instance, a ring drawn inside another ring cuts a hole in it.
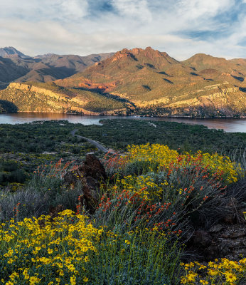
[{"label": "low hill with pale eroded cliff on the lake's left far shore", "polygon": [[[52,86],[53,87],[53,86]],[[115,112],[123,112],[124,108],[115,110],[100,109],[100,98],[93,98],[80,90],[59,89],[50,90],[33,86],[27,83],[10,83],[5,90],[0,92],[0,100],[7,100],[16,106],[18,112],[43,112],[43,113],[80,113],[83,115],[114,115]],[[109,103],[112,103],[111,101]],[[102,108],[103,109],[103,108]],[[112,108],[113,109],[113,108]]]}]

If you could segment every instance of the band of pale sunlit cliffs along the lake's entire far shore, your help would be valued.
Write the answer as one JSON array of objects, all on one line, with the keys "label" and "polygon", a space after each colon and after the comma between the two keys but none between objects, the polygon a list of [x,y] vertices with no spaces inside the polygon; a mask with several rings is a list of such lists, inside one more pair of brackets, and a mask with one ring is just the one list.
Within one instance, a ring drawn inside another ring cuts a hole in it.
[{"label": "band of pale sunlit cliffs along the lake's entire far shore", "polygon": [[[114,106],[113,104],[110,110],[100,110],[103,104],[112,103],[110,101],[112,99],[107,101],[105,95],[97,94],[95,101],[95,98],[90,97],[93,94],[91,91],[63,88],[55,84],[50,86],[52,89],[50,90],[47,87],[44,88],[45,86],[34,86],[31,83],[10,83],[8,88],[1,90],[0,100],[8,100],[13,103],[19,112],[139,115],[139,110],[141,110],[141,115],[245,117],[246,93],[236,86],[230,87],[227,84],[205,86],[196,92],[186,92],[179,96],[170,95],[146,101],[130,100],[132,103],[124,103],[125,108],[119,108],[118,105]],[[117,98],[126,98],[125,95],[119,93],[114,93],[114,95]],[[106,101],[102,102],[102,100]]]}]

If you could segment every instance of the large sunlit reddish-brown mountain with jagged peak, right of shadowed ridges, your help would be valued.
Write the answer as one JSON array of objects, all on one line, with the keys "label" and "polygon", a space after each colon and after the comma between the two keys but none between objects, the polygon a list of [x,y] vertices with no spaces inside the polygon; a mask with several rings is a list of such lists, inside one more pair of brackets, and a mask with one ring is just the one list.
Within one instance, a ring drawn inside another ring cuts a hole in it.
[{"label": "large sunlit reddish-brown mountain with jagged peak, right of shadowed ridges", "polygon": [[56,83],[110,92],[137,105],[141,114],[243,116],[246,61],[197,54],[176,61],[167,53],[124,48],[82,73]]}]

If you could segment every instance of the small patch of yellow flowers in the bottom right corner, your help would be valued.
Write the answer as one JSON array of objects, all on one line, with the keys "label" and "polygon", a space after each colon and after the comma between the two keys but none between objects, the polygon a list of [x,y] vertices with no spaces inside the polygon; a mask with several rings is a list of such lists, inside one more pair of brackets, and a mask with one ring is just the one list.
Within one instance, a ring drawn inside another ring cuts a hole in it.
[{"label": "small patch of yellow flowers in the bottom right corner", "polygon": [[246,258],[238,262],[225,258],[220,261],[215,259],[206,266],[195,261],[181,263],[181,266],[186,271],[181,277],[181,284],[235,285],[246,276]]}]

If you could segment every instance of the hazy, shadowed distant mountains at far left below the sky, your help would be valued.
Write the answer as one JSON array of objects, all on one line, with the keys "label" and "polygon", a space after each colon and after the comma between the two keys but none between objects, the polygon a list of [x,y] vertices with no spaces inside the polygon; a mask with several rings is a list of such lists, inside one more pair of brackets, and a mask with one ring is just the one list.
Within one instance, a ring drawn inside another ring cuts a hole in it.
[{"label": "hazy, shadowed distant mountains at far left below the sky", "polygon": [[[85,70],[97,61],[114,53],[100,53],[89,56],[59,56],[48,53],[43,56],[25,56],[16,48],[0,48],[0,84],[11,81],[25,82],[55,81]],[[1,86],[0,86],[1,87]]]}]

